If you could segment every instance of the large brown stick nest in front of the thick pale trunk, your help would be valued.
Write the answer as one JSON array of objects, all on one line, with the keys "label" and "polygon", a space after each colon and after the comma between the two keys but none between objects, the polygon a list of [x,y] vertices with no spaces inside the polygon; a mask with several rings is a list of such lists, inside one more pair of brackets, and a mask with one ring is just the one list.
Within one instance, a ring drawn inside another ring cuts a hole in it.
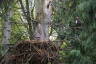
[{"label": "large brown stick nest in front of the thick pale trunk", "polygon": [[6,64],[47,64],[57,56],[57,48],[51,41],[21,41],[10,51]]}]

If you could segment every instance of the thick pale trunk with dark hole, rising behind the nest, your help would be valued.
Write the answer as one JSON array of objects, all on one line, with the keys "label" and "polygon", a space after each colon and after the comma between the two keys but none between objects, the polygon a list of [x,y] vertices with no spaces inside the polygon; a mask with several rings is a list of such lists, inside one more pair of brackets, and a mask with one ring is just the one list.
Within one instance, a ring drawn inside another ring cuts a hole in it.
[{"label": "thick pale trunk with dark hole, rising behind the nest", "polygon": [[38,21],[35,38],[41,41],[49,40],[48,28],[52,12],[50,3],[50,0],[35,0],[35,18]]}]

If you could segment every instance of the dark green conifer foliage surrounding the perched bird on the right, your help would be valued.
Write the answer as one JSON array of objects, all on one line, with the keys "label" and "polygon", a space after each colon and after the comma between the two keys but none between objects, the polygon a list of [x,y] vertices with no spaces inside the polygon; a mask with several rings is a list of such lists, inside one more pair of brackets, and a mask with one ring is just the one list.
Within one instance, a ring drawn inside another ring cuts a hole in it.
[{"label": "dark green conifer foliage surrounding the perched bird on the right", "polygon": [[[65,64],[96,64],[96,1],[66,0],[61,2],[59,6],[63,6],[65,9],[59,8],[59,11],[56,11],[55,23],[63,23],[66,29],[56,30],[59,34],[62,33],[62,36],[65,36],[65,39],[73,47],[67,53],[65,50],[61,51],[62,54],[60,53],[62,58],[67,57],[69,60]],[[71,26],[75,26],[76,17],[80,17],[82,30],[68,27],[70,22]],[[59,28],[61,27],[59,26]],[[64,61],[64,59],[62,60]]]}]

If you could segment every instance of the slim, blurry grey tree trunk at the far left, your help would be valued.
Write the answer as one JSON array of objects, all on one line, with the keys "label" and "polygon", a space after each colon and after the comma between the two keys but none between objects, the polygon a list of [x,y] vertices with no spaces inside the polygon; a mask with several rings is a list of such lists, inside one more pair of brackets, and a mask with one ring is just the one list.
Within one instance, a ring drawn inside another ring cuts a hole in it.
[{"label": "slim, blurry grey tree trunk at the far left", "polygon": [[8,49],[8,44],[10,40],[10,35],[11,35],[11,20],[10,18],[12,17],[12,11],[11,9],[8,9],[5,18],[4,18],[4,31],[3,31],[3,40],[2,40],[2,45],[4,48],[4,51]]}]

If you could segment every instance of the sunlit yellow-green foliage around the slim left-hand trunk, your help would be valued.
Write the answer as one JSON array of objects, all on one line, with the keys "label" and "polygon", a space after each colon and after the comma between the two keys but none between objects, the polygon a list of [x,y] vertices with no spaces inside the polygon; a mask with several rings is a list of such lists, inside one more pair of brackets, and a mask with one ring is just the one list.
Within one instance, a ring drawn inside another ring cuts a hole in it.
[{"label": "sunlit yellow-green foliage around the slim left-hand trunk", "polygon": [[[19,40],[25,40],[28,39],[28,33],[27,33],[27,23],[26,20],[23,19],[22,11],[20,9],[20,6],[18,5],[18,1],[11,1],[11,0],[2,0],[0,2],[2,6],[0,6],[0,41],[2,42],[2,36],[3,36],[3,30],[4,29],[4,19],[6,16],[6,13],[10,9],[12,13],[11,20],[11,38],[10,43],[14,44]],[[22,20],[23,19],[23,20]],[[25,24],[25,23],[26,24]]]}]

